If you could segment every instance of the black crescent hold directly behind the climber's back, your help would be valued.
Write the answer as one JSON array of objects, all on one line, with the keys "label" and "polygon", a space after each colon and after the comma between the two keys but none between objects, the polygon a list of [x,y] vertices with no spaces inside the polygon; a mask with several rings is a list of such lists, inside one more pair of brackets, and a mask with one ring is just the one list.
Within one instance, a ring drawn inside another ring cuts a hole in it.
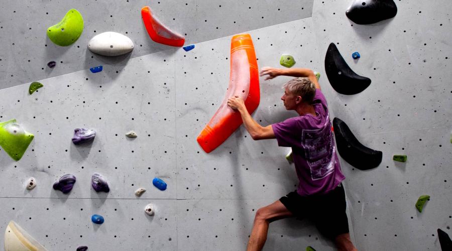
[{"label": "black crescent hold directly behind the climber's back", "polygon": [[344,121],[335,117],[333,129],[337,152],[350,165],[360,170],[369,170],[380,165],[383,153],[363,146]]}]

